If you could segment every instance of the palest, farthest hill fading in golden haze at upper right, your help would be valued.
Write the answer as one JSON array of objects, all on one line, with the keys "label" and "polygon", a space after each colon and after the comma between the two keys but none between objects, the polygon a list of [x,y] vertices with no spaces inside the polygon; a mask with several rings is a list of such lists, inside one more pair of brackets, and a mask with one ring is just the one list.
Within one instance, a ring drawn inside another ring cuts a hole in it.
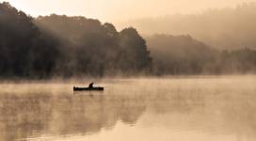
[{"label": "palest, farthest hill fading in golden haze at upper right", "polygon": [[176,14],[143,18],[123,25],[133,25],[144,36],[154,34],[189,34],[216,49],[256,49],[256,3],[236,8],[211,8],[198,14]]}]

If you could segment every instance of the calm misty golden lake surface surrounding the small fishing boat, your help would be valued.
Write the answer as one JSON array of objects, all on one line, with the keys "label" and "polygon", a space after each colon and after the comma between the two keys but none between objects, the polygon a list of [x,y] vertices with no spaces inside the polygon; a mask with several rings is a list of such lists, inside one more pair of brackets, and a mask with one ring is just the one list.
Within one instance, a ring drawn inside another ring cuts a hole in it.
[{"label": "calm misty golden lake surface surrounding the small fishing boat", "polygon": [[97,83],[0,84],[0,140],[256,140],[256,76]]}]

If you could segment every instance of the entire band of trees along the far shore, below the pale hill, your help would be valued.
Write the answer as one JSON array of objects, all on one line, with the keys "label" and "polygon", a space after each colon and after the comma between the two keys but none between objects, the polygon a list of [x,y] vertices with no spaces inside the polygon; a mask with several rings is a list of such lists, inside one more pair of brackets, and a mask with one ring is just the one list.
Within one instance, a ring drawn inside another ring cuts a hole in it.
[{"label": "entire band of trees along the far shore, below the pale hill", "polygon": [[132,27],[119,32],[113,24],[85,17],[33,18],[0,4],[2,78],[256,72],[252,49],[221,52],[190,36],[156,35],[147,41]]}]

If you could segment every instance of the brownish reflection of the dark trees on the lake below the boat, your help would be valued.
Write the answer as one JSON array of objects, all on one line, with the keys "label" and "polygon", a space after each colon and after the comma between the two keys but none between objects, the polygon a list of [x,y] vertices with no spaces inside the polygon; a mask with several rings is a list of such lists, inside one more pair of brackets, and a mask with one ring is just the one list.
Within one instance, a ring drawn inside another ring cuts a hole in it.
[{"label": "brownish reflection of the dark trees on the lake below the boat", "polygon": [[2,94],[1,140],[15,140],[34,133],[97,133],[111,129],[118,120],[133,124],[145,111],[139,96]]}]

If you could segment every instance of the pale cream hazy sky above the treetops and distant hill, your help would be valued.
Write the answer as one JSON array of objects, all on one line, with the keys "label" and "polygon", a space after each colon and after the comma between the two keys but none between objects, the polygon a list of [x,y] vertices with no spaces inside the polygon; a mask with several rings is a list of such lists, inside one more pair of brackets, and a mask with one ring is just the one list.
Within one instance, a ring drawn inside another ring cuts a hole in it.
[{"label": "pale cream hazy sky above the treetops and distant hill", "polygon": [[[0,0],[1,1],[1,0]],[[83,15],[104,22],[127,21],[173,13],[199,12],[206,8],[234,7],[256,0],[7,0],[32,16],[50,13]],[[1,1],[2,2],[2,1]]]}]

